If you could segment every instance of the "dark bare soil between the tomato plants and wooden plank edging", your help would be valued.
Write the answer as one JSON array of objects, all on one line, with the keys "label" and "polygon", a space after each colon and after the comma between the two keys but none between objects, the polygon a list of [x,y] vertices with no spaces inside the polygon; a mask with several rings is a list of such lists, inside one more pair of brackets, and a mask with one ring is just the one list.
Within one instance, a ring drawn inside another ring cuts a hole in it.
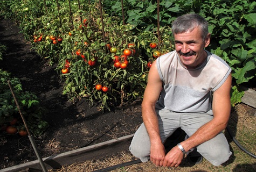
[{"label": "dark bare soil between the tomato plants and wooden plank edging", "polygon": [[[86,99],[70,102],[61,94],[63,81],[47,61],[31,50],[17,25],[0,19],[0,43],[8,47],[0,68],[20,79],[23,90],[36,94],[50,127],[34,138],[42,157],[132,134],[141,124],[140,102],[113,112],[98,111]],[[0,169],[37,160],[27,137],[0,133]]]}]

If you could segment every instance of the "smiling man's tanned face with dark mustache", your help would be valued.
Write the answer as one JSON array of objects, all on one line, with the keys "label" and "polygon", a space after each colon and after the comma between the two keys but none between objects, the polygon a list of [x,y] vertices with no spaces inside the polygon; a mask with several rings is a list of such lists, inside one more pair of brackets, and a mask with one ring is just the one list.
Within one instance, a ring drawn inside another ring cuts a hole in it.
[{"label": "smiling man's tanned face with dark mustache", "polygon": [[191,32],[174,34],[175,49],[182,64],[188,69],[195,69],[207,56],[204,48],[210,44],[210,34],[202,39],[202,31],[195,27]]}]

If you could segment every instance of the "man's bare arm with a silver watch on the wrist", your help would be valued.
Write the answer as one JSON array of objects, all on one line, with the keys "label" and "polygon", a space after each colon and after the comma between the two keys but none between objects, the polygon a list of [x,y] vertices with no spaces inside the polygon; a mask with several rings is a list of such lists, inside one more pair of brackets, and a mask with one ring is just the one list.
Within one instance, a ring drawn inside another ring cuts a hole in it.
[{"label": "man's bare arm with a silver watch on the wrist", "polygon": [[[191,137],[183,142],[181,145],[187,152],[193,147],[196,147],[203,142],[212,139],[219,132],[223,131],[230,117],[231,103],[230,103],[230,89],[231,89],[231,74],[224,82],[224,84],[213,93],[212,110],[213,119],[200,127]],[[178,146],[175,146],[170,150],[170,152],[165,156],[164,166],[175,167],[181,163],[181,150]]]}]

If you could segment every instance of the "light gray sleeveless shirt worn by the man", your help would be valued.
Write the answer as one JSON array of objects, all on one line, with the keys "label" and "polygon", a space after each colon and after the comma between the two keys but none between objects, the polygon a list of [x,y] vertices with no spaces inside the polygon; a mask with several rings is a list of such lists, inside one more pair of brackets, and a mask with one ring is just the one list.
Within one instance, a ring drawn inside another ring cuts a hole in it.
[{"label": "light gray sleeveless shirt worn by the man", "polygon": [[208,51],[205,62],[186,69],[176,51],[156,59],[163,89],[157,105],[174,112],[205,113],[211,110],[212,93],[231,73],[229,65]]}]

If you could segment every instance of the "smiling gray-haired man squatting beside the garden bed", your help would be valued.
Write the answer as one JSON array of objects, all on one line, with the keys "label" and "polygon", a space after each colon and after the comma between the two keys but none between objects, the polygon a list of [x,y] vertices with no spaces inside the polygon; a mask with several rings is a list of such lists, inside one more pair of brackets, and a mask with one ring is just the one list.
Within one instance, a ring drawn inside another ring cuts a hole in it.
[{"label": "smiling gray-haired man squatting beside the garden bed", "polygon": [[[184,154],[197,148],[219,166],[232,154],[222,131],[230,117],[231,68],[205,51],[210,44],[207,21],[197,15],[172,24],[175,51],[156,59],[150,68],[142,102],[143,123],[130,152],[156,166],[178,167]],[[177,128],[189,138],[165,153],[164,142]]]}]

